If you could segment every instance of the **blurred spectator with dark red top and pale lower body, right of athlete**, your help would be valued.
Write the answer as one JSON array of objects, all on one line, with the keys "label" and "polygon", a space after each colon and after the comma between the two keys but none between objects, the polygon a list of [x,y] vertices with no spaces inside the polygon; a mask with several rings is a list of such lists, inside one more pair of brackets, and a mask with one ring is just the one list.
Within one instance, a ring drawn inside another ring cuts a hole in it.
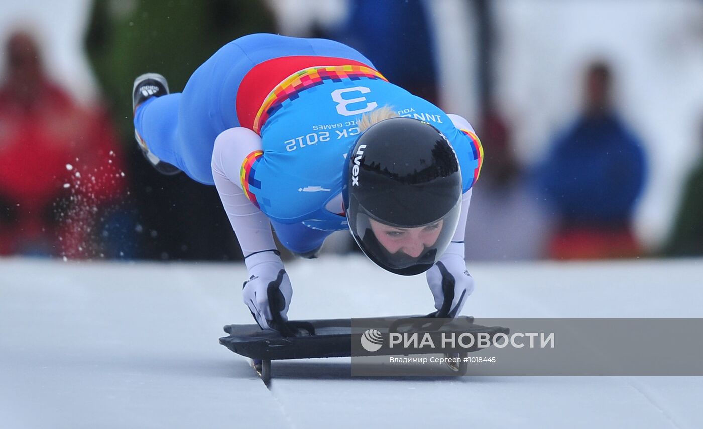
[{"label": "blurred spectator with dark red top and pale lower body, right of athlete", "polygon": [[515,159],[510,128],[490,107],[478,125],[484,166],[471,196],[466,258],[540,258],[546,251],[549,219],[538,201],[533,180]]}]

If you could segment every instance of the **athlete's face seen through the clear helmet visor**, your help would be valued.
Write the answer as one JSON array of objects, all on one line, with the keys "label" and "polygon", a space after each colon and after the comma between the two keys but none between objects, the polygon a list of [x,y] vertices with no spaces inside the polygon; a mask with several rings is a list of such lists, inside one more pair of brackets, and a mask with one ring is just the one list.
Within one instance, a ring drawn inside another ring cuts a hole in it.
[{"label": "athlete's face seen through the clear helmet visor", "polygon": [[439,238],[444,219],[430,225],[414,228],[401,228],[376,220],[369,219],[371,223],[371,231],[375,235],[378,242],[389,253],[403,252],[411,258],[418,258],[423,254],[425,247],[434,246]]}]

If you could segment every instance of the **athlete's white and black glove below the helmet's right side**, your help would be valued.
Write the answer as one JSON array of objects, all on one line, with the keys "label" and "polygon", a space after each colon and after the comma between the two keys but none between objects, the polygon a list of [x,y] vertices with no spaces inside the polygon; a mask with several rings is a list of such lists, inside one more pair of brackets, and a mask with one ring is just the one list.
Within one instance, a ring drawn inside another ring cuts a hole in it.
[{"label": "athlete's white and black glove below the helmet's right side", "polygon": [[[460,251],[456,246],[461,246]],[[427,284],[434,295],[434,308],[437,308],[435,317],[456,317],[474,291],[474,279],[466,269],[463,246],[463,243],[450,244],[439,262],[427,270]]]}]

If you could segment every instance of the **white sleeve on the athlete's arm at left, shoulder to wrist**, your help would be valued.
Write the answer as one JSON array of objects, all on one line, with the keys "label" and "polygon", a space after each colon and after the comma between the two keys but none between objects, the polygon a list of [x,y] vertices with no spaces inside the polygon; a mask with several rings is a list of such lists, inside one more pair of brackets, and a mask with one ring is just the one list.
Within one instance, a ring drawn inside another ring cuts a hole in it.
[{"label": "white sleeve on the athlete's arm at left, shoulder to wrist", "polygon": [[[245,257],[254,253],[278,254],[271,233],[271,223],[261,210],[247,199],[239,179],[239,171],[247,154],[262,150],[261,138],[247,128],[230,128],[215,140],[212,152],[212,176],[239,246]],[[258,259],[258,258],[257,258]]]}]

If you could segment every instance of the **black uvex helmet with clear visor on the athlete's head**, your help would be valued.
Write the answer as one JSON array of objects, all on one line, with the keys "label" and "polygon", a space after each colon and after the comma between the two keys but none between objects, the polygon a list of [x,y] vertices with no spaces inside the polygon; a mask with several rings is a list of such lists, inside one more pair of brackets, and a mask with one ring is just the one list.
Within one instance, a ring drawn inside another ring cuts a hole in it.
[{"label": "black uvex helmet with clear visor on the athlete's head", "polygon": [[385,119],[356,140],[346,174],[344,209],[363,253],[399,275],[432,268],[461,211],[459,161],[444,135],[417,119]]}]

